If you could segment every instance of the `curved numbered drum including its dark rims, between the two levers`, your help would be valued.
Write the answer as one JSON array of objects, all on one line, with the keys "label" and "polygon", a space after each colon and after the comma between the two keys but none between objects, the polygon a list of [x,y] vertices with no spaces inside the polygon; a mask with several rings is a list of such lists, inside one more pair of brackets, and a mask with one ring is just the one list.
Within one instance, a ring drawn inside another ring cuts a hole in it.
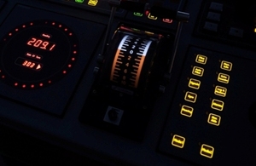
[{"label": "curved numbered drum including its dark rims, between the two levers", "polygon": [[162,37],[120,26],[108,48],[101,82],[125,94],[143,95],[149,86],[148,79]]}]

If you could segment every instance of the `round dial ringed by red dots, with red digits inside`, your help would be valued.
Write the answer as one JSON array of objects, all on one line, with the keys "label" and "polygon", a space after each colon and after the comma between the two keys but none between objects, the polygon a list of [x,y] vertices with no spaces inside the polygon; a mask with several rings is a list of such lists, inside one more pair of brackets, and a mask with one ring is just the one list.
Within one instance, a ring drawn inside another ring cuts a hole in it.
[{"label": "round dial ringed by red dots, with red digits inside", "polygon": [[55,21],[17,26],[0,42],[0,79],[21,89],[55,83],[77,60],[77,41],[73,31]]}]

